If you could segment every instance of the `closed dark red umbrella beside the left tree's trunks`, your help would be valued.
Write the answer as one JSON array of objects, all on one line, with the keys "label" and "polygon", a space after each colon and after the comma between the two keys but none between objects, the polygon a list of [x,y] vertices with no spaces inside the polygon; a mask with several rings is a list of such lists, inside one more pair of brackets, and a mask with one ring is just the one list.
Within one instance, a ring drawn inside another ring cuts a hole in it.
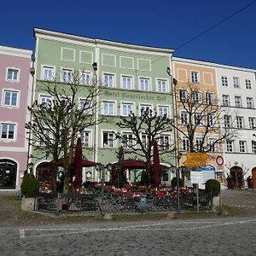
[{"label": "closed dark red umbrella beside the left tree's trunks", "polygon": [[73,182],[73,189],[81,189],[82,187],[82,143],[81,138],[78,138],[76,152],[73,158],[75,166],[75,179]]}]

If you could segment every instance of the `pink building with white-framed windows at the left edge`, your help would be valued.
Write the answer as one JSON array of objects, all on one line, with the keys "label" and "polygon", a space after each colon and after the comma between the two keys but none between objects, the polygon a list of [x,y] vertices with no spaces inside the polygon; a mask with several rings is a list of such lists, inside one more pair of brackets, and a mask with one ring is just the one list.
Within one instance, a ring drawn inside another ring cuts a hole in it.
[{"label": "pink building with white-framed windows at the left edge", "polygon": [[20,189],[27,169],[31,57],[31,50],[0,46],[0,189]]}]

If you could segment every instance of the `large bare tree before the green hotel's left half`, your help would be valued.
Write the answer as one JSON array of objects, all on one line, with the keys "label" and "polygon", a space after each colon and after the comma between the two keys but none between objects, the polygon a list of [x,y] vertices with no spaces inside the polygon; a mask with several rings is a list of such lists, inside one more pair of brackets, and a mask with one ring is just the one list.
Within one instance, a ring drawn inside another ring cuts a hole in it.
[{"label": "large bare tree before the green hotel's left half", "polygon": [[86,128],[102,122],[96,118],[96,97],[100,91],[101,84],[94,80],[81,84],[79,72],[63,77],[61,82],[57,79],[37,81],[36,92],[44,97],[28,107],[32,119],[26,123],[26,129],[32,135],[29,143],[39,151],[39,158],[50,156],[54,161],[54,189],[59,160],[64,161],[64,191],[67,192],[77,137]]}]

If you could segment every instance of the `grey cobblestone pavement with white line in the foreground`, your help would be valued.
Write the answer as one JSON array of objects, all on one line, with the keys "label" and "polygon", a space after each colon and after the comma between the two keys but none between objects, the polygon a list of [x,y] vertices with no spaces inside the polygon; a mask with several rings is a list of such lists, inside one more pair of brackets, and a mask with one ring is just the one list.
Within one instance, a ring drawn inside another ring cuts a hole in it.
[{"label": "grey cobblestone pavement with white line in the foreground", "polygon": [[222,195],[224,205],[243,208],[246,214],[196,220],[2,225],[0,255],[256,255],[256,192],[223,190]]}]

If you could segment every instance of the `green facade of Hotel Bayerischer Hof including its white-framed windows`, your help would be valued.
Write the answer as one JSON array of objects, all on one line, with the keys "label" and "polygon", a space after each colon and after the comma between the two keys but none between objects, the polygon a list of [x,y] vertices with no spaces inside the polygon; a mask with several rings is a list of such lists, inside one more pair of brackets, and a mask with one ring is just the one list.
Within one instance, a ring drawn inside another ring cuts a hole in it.
[{"label": "green facade of Hotel Bayerischer Hof including its white-framed windows", "polygon": [[[64,73],[68,77],[70,73],[77,71],[83,77],[81,86],[90,80],[102,85],[103,89],[96,98],[100,106],[96,119],[105,116],[108,122],[84,131],[83,155],[88,160],[101,162],[103,165],[118,161],[117,152],[122,144],[115,139],[115,133],[129,134],[131,131],[120,131],[116,123],[120,116],[128,115],[130,111],[140,115],[141,109],[150,108],[172,119],[172,79],[166,73],[166,67],[172,67],[172,49],[121,44],[38,28],[34,30],[34,36],[34,100],[42,101],[42,98],[47,97],[44,91],[38,90],[37,84],[53,75],[59,76],[61,82]],[[83,99],[83,94],[86,94],[86,86],[78,101]],[[170,145],[173,144],[173,131],[161,136]],[[32,154],[36,156],[38,151],[32,150]],[[126,158],[136,156],[129,154],[125,155]],[[35,170],[49,160],[32,159]],[[173,166],[174,153],[160,155],[160,164]],[[172,173],[168,172],[162,177],[162,183],[171,183]],[[134,181],[132,175],[129,178]],[[83,169],[83,181],[88,180],[100,180],[94,167]]]}]

